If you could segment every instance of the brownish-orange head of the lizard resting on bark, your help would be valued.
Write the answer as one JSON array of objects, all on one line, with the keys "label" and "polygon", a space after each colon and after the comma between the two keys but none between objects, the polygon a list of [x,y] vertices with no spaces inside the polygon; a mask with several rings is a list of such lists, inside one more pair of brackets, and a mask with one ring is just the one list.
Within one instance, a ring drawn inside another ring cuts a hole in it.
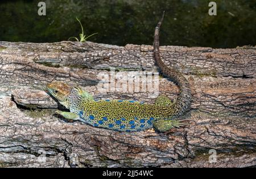
[{"label": "brownish-orange head of the lizard resting on bark", "polygon": [[64,105],[66,108],[69,108],[68,97],[72,91],[71,86],[63,82],[52,82],[47,84],[46,88],[47,91],[51,93],[51,95],[55,97],[60,104]]}]

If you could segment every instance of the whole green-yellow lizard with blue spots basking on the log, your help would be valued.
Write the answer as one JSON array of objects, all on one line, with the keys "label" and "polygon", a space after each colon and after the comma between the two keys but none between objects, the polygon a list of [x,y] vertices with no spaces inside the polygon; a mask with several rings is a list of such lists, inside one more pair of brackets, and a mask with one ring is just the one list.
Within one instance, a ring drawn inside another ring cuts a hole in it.
[{"label": "whole green-yellow lizard with blue spots basking on the log", "polygon": [[155,28],[154,57],[162,73],[180,87],[176,103],[165,96],[159,96],[155,104],[129,100],[94,100],[93,96],[80,87],[71,87],[63,82],[47,84],[47,90],[70,112],[56,111],[69,120],[79,120],[89,125],[116,131],[141,131],[154,127],[167,131],[183,124],[176,120],[191,103],[191,90],[184,76],[168,68],[159,54],[159,28],[163,17]]}]

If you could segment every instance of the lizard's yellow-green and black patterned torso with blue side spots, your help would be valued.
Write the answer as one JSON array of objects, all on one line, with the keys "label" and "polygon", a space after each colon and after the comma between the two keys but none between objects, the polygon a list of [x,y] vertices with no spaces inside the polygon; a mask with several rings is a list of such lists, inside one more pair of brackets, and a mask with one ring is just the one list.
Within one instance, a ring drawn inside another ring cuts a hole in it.
[{"label": "lizard's yellow-green and black patterned torso with blue side spots", "polygon": [[133,100],[87,100],[76,90],[72,90],[69,101],[69,109],[79,114],[81,121],[117,131],[145,130],[161,117],[153,104]]}]

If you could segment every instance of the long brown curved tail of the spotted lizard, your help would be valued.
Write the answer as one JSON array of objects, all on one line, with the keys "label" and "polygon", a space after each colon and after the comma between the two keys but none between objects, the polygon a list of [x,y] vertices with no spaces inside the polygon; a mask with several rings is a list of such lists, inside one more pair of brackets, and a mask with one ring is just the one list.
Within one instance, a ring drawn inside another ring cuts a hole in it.
[{"label": "long brown curved tail of the spotted lizard", "polygon": [[[172,81],[179,87],[180,94],[177,97],[176,103],[170,106],[171,109],[167,109],[166,111],[168,118],[177,118],[181,116],[186,110],[190,108],[191,105],[191,88],[189,86],[188,80],[176,69],[167,67],[161,57],[159,52],[159,29],[163,22],[163,16],[160,19],[159,23],[155,27],[155,35],[154,35],[154,58],[156,65],[158,65],[160,71],[163,75],[171,78]],[[168,115],[170,114],[170,115]]]}]

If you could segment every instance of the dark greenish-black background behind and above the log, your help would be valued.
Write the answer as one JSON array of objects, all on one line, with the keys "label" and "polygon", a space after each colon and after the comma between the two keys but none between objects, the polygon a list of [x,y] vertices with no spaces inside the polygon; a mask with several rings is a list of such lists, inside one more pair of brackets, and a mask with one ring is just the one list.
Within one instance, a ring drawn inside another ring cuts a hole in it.
[{"label": "dark greenish-black background behind and above the log", "polygon": [[214,1],[217,16],[208,15],[206,0],[48,0],[46,16],[38,15],[38,2],[0,1],[0,41],[68,40],[81,31],[77,16],[86,35],[98,32],[89,41],[152,44],[155,25],[165,10],[161,45],[256,45],[255,0]]}]

